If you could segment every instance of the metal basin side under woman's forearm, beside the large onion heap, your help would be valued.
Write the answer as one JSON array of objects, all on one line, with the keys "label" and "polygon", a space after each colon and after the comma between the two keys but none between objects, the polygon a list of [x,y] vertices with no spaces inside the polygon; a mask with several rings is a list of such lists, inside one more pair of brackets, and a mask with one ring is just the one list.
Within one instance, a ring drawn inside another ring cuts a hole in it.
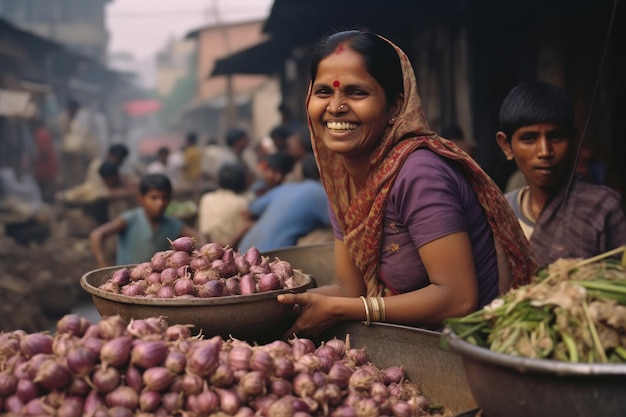
[{"label": "metal basin side under woman's forearm, beside the large onion heap", "polygon": [[444,415],[476,408],[461,358],[441,347],[441,333],[387,323],[367,327],[361,322],[343,322],[320,340],[345,340],[346,334],[350,335],[350,347],[365,347],[377,367],[404,366],[409,380],[420,387],[431,404],[444,406]]}]

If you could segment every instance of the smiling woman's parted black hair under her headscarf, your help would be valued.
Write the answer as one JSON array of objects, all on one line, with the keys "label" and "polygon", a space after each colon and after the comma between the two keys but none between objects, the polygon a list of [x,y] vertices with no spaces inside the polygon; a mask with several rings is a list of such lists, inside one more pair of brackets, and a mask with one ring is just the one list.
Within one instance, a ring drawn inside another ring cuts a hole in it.
[{"label": "smiling woman's parted black hair under her headscarf", "polygon": [[311,55],[311,81],[317,77],[320,62],[342,43],[363,57],[367,72],[385,91],[387,106],[395,103],[404,92],[400,57],[393,45],[374,33],[348,30],[319,41]]}]

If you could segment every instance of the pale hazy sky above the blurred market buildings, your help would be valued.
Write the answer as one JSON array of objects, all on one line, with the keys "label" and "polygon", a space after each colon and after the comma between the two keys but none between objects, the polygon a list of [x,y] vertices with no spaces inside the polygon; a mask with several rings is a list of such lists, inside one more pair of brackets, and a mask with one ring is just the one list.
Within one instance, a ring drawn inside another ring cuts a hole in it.
[{"label": "pale hazy sky above the blurred market buildings", "polygon": [[216,22],[267,17],[273,0],[113,0],[108,4],[110,52],[145,60],[170,38]]}]

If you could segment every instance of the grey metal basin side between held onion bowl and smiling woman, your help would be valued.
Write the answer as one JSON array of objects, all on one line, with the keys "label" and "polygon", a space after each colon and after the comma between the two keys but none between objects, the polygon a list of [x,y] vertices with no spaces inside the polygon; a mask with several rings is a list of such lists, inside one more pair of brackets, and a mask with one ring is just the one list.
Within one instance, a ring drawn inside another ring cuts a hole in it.
[{"label": "grey metal basin side between held onion bowl and smiling woman", "polygon": [[335,244],[320,243],[308,246],[289,246],[263,253],[270,260],[279,258],[293,268],[305,271],[318,286],[335,282]]}]

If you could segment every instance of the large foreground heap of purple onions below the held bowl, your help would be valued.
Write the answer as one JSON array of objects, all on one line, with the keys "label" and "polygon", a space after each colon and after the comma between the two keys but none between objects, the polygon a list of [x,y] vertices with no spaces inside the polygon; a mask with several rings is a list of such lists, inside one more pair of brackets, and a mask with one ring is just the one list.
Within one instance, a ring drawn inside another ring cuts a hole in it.
[{"label": "large foreground heap of purple onions below the held bowl", "polygon": [[429,415],[403,366],[346,340],[264,345],[191,336],[161,317],[68,314],[54,334],[0,333],[2,415],[375,417]]}]

